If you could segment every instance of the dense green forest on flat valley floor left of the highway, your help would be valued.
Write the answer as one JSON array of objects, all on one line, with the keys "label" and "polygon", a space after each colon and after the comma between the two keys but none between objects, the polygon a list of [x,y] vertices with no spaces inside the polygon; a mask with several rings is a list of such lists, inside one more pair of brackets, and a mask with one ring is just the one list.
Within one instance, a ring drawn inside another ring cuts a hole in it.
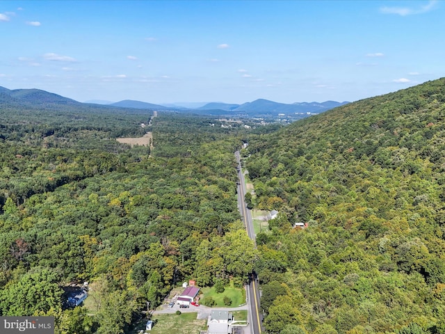
[{"label": "dense green forest on flat valley floor left of the highway", "polygon": [[[143,129],[149,111],[84,104],[0,111],[0,315],[116,334],[184,279],[247,280],[257,255],[234,159],[245,130],[172,113]],[[147,131],[152,152],[115,141]],[[90,308],[65,309],[63,288],[85,281]]]}]

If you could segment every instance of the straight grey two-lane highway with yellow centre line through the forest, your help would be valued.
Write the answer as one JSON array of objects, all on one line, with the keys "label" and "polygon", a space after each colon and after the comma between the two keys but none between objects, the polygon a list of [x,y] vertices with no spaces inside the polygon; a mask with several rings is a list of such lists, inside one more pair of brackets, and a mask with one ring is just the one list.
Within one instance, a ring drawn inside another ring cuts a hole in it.
[{"label": "straight grey two-lane highway with yellow centre line through the forest", "polygon": [[[252,213],[250,212],[250,209],[247,208],[245,204],[245,180],[244,175],[241,170],[241,159],[239,151],[235,152],[237,167],[238,170],[238,207],[241,212],[241,216],[243,216],[243,221],[245,225],[245,229],[248,232],[248,236],[250,239],[255,240],[255,232],[253,229],[253,223],[252,223]],[[248,304],[249,304],[249,324],[250,324],[250,330],[253,334],[261,334],[262,328],[262,313],[261,308],[259,305],[259,283],[257,280],[256,273],[252,273],[252,276],[250,278],[250,283],[248,285]]]}]

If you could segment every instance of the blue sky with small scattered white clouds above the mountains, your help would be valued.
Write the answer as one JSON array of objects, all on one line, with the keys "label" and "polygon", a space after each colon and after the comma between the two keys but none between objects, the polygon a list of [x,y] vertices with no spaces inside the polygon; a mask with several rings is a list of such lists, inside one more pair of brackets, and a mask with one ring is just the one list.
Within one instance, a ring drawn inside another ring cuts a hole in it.
[{"label": "blue sky with small scattered white clouds above the mountains", "polygon": [[355,101],[444,77],[444,17],[442,1],[0,1],[0,86]]}]

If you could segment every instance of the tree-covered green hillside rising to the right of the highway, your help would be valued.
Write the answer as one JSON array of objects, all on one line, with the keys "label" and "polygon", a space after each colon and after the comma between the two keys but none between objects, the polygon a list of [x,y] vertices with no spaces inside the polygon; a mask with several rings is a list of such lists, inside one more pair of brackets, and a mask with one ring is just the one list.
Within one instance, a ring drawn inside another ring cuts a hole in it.
[{"label": "tree-covered green hillside rising to the right of the highway", "polygon": [[269,333],[445,333],[444,138],[445,79],[252,136]]}]

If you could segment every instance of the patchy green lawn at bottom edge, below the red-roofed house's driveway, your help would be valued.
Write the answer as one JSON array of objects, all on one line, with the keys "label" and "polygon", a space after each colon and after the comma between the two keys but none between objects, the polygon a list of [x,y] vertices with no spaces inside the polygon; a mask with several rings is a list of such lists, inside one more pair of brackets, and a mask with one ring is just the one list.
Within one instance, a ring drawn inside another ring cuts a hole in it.
[{"label": "patchy green lawn at bottom edge, below the red-roofed house's driveway", "polygon": [[[182,313],[181,315],[154,315],[154,326],[148,333],[151,334],[196,334],[207,329],[207,320],[197,320],[197,313]],[[136,334],[138,330],[145,329],[146,319],[136,324],[136,328],[128,334]]]}]

